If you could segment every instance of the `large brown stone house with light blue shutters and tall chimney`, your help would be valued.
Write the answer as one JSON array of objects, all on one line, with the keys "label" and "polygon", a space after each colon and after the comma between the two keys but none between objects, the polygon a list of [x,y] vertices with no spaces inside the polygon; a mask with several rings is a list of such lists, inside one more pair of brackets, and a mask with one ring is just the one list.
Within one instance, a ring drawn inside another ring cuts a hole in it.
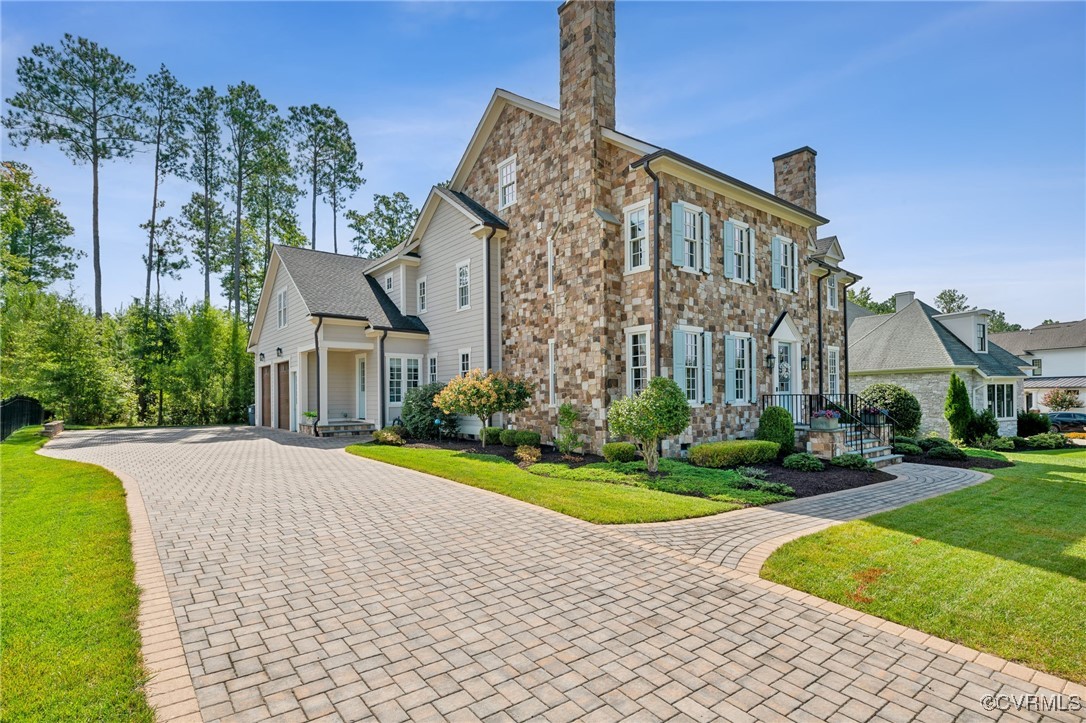
[{"label": "large brown stone house with light blue shutters and tall chimney", "polygon": [[693,411],[675,454],[750,436],[766,404],[848,391],[859,277],[818,238],[815,151],[773,158],[770,193],[619,132],[614,3],[558,17],[560,109],[495,91],[405,243],[376,261],[275,250],[249,345],[258,423],[384,424],[412,386],[503,369],[536,389],[503,421],[546,440],[569,402],[598,449],[610,404],[665,376]]}]

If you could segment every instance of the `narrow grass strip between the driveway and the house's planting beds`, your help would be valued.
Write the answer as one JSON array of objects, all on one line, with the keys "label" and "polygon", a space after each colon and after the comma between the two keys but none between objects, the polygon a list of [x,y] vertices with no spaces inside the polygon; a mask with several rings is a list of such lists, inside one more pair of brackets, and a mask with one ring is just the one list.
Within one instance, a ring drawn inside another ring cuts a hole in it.
[{"label": "narrow grass strip between the driveway and the house's planting beds", "polygon": [[682,520],[742,507],[734,502],[675,495],[627,484],[541,477],[495,455],[375,444],[353,445],[348,452],[602,524]]}]

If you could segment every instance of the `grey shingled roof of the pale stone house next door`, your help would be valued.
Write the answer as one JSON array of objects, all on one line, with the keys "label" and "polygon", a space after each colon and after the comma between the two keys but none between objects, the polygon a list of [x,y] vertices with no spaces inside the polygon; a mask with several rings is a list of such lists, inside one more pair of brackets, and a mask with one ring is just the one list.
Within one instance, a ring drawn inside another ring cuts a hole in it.
[{"label": "grey shingled roof of the pale stone house next door", "polygon": [[972,367],[985,377],[1024,377],[1022,360],[988,340],[977,354],[943,326],[938,312],[917,300],[895,314],[856,318],[848,328],[851,372]]}]

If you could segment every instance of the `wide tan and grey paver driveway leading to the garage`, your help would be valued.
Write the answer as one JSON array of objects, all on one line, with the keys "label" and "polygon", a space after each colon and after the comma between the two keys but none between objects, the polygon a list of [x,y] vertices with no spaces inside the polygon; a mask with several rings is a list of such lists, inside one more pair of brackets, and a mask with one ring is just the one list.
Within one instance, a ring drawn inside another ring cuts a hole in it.
[{"label": "wide tan and grey paver driveway leading to the garage", "polygon": [[1037,720],[980,701],[1051,693],[331,446],[203,429],[47,447],[139,482],[205,720]]}]

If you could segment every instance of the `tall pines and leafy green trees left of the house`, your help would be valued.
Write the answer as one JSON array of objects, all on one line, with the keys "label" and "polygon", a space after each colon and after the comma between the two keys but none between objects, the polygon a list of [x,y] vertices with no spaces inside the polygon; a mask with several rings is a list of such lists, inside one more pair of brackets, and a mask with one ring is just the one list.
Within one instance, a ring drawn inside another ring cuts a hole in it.
[{"label": "tall pines and leafy green trees left of the house", "polygon": [[[94,301],[91,313],[73,290],[49,290],[71,281],[86,254],[66,243],[75,229],[33,169],[5,162],[0,391],[34,394],[74,420],[240,420],[253,395],[244,346],[272,245],[308,242],[316,249],[318,201],[332,212],[336,253],[341,215],[355,233],[351,245],[358,255],[395,246],[417,216],[404,193],[375,195],[366,214],[346,208],[366,180],[351,130],[332,107],[292,105],[282,114],[249,83],[225,92],[213,86],[191,90],[165,65],[139,80],[134,65],[71,35],[20,58],[16,80],[3,117],[12,143],[55,145],[76,165],[89,166]],[[132,290],[131,304],[108,315],[100,169],[138,151],[152,168],[148,220],[140,225],[147,238],[143,288],[141,294]],[[192,185],[176,210],[160,198],[168,178]],[[308,239],[296,208],[306,193]],[[164,301],[162,277],[180,278],[193,263],[203,277],[202,303]],[[216,275],[225,312],[212,305]],[[214,389],[205,383],[212,375]],[[99,397],[97,407],[88,394]]]}]

